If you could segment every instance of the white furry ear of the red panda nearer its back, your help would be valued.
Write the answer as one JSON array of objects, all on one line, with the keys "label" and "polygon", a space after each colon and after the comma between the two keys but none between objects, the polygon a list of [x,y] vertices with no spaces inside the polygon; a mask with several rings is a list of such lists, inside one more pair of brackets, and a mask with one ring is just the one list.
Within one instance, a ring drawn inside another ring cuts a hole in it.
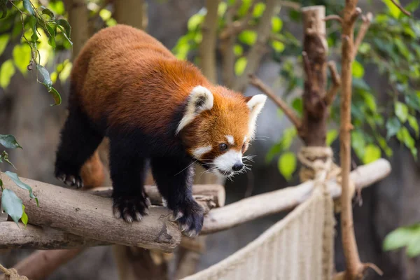
[{"label": "white furry ear of the red panda nearer its back", "polygon": [[191,123],[197,115],[202,113],[202,111],[207,111],[213,108],[213,104],[214,97],[210,90],[201,85],[194,87],[188,97],[184,116],[176,128],[176,134],[179,134],[179,132],[186,127],[186,125]]}]

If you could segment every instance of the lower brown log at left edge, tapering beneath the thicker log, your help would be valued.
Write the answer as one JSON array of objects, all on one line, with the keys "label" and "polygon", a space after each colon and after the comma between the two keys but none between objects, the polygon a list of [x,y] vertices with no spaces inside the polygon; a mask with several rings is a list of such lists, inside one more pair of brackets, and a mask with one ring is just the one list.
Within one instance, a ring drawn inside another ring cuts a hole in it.
[{"label": "lower brown log at left edge, tapering beneath the thicker log", "polygon": [[72,235],[38,225],[18,225],[15,222],[0,222],[0,249],[71,249],[83,246],[102,246],[107,243]]}]

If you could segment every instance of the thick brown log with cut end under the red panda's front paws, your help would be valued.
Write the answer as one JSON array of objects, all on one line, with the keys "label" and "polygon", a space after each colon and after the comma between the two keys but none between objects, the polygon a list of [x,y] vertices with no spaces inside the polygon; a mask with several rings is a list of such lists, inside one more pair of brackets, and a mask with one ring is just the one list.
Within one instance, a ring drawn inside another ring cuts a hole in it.
[{"label": "thick brown log with cut end under the red panda's front paws", "polygon": [[[105,197],[59,188],[47,183],[21,179],[34,190],[40,207],[8,176],[5,188],[13,190],[25,204],[29,223],[46,225],[89,239],[126,246],[174,251],[181,241],[178,225],[170,220],[171,212],[164,207],[151,207],[139,223],[125,223],[112,213],[112,202]],[[1,193],[1,192],[0,192]]]}]

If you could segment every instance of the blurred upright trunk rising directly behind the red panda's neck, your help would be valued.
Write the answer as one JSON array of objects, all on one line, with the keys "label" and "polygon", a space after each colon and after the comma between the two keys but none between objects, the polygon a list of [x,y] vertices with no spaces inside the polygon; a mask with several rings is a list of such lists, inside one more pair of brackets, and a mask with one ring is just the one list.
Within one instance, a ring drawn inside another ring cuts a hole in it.
[{"label": "blurred upright trunk rising directly behind the red panda's neck", "polygon": [[211,83],[217,83],[216,69],[216,38],[217,38],[217,10],[219,0],[207,0],[207,15],[202,28],[202,42],[200,43],[200,64],[204,76]]}]

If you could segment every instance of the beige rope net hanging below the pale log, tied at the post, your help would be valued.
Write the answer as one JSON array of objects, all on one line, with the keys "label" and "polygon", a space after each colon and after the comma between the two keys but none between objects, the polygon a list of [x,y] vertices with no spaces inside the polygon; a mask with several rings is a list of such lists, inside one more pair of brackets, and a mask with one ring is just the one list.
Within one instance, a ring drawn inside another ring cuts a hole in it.
[{"label": "beige rope net hanging below the pale log, tied at the post", "polygon": [[311,197],[247,246],[183,280],[332,279],[332,199],[316,183]]}]

